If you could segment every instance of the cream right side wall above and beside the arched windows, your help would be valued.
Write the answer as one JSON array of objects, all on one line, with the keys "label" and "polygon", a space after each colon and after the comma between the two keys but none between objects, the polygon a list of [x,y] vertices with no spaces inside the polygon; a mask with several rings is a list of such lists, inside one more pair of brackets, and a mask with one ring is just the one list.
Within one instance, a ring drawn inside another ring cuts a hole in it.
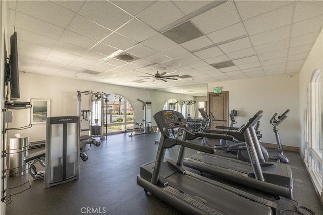
[{"label": "cream right side wall above and beside the arched windows", "polygon": [[300,92],[300,131],[301,131],[301,151],[304,155],[304,113],[307,107],[307,89],[311,81],[312,73],[315,69],[323,70],[323,31],[319,34],[314,46],[312,47],[299,75],[299,92]]}]

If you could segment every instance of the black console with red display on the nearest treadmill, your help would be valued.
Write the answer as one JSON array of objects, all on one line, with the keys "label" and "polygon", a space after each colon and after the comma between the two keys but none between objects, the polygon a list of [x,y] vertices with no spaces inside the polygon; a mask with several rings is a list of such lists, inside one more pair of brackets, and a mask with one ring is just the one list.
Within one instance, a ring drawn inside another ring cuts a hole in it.
[{"label": "black console with red display on the nearest treadmill", "polygon": [[153,118],[155,119],[160,131],[163,130],[163,128],[177,128],[185,126],[186,124],[186,120],[183,115],[174,110],[159,111],[153,116]]}]

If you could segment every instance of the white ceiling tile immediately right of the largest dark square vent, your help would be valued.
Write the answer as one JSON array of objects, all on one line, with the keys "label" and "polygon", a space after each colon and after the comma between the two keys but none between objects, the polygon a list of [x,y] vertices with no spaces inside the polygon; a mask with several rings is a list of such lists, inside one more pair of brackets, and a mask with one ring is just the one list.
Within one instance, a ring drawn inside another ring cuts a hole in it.
[{"label": "white ceiling tile immediately right of the largest dark square vent", "polygon": [[243,35],[246,35],[247,32],[244,29],[241,22],[231,25],[227,28],[214,31],[213,33],[207,34],[208,38],[210,38],[214,43],[220,43],[223,41],[227,41],[233,38],[237,38]]}]

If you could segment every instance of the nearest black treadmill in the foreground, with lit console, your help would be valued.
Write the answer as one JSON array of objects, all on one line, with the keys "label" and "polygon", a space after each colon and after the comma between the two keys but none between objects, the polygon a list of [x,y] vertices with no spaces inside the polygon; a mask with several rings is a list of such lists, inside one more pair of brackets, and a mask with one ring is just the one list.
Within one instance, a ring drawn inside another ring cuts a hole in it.
[{"label": "nearest black treadmill in the foreground, with lit console", "polygon": [[[137,184],[158,198],[187,214],[275,214],[276,204],[242,190],[184,170],[165,151],[175,145],[213,153],[209,147],[170,138],[169,129],[182,131],[182,139],[190,132],[183,115],[174,110],[159,111],[154,119],[161,132],[156,160],[140,167]],[[188,133],[187,133],[188,132]],[[201,137],[227,138],[224,135],[201,134]],[[184,150],[182,150],[184,153]],[[181,155],[184,156],[184,155]]]}]

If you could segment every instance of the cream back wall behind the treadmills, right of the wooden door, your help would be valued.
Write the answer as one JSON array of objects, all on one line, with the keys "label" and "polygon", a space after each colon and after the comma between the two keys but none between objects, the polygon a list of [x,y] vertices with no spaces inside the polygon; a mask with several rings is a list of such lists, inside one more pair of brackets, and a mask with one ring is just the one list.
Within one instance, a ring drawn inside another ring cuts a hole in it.
[{"label": "cream back wall behind the treadmills, right of the wooden door", "polygon": [[279,125],[280,137],[283,145],[299,147],[299,73],[208,83],[208,92],[217,86],[229,91],[229,111],[237,110],[237,127],[263,110],[259,127],[262,142],[276,144],[269,120],[274,113],[280,115],[290,109],[286,120]]}]

